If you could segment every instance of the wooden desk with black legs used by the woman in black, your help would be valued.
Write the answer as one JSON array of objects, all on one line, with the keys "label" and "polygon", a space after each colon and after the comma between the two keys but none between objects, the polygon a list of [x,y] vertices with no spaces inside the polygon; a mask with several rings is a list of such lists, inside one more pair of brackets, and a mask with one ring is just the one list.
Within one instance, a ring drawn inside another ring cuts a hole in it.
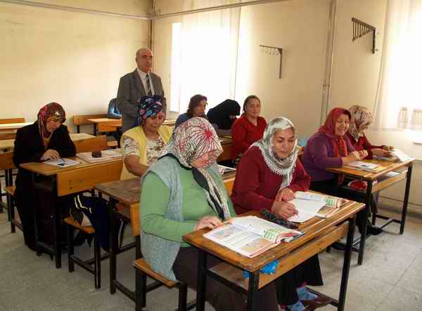
[{"label": "wooden desk with black legs used by the woman in black", "polygon": [[[101,163],[89,163],[79,158],[75,159],[81,164],[70,166],[67,168],[60,168],[42,162],[30,162],[20,164],[20,167],[31,172],[32,187],[47,190],[53,193],[53,197],[62,197],[66,194],[73,194],[77,192],[91,190],[94,185],[98,183],[105,183],[110,180],[117,180],[120,178],[120,171],[122,170],[122,159],[112,159],[103,161]],[[41,183],[34,183],[35,174],[46,176],[48,181]],[[56,200],[54,201],[56,206]],[[34,209],[35,217],[37,218],[37,209]],[[37,255],[41,254],[40,249],[44,249],[48,253],[56,256],[56,267],[61,267],[61,246],[60,246],[60,223],[62,222],[61,209],[53,209],[53,226],[54,245],[48,245],[42,241],[38,241],[37,222],[35,225],[35,241]]]}]

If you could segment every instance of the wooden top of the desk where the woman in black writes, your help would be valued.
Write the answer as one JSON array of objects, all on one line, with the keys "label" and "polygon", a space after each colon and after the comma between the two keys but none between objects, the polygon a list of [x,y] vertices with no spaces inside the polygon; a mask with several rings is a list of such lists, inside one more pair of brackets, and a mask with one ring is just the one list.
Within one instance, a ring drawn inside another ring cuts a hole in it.
[{"label": "wooden top of the desk where the woman in black writes", "polygon": [[92,166],[102,166],[104,164],[122,161],[122,159],[110,159],[110,160],[107,160],[107,161],[91,163],[91,162],[87,162],[87,161],[84,161],[82,159],[79,159],[78,157],[71,157],[69,159],[79,161],[80,164],[77,164],[75,166],[69,166],[69,167],[61,168],[61,167],[58,167],[58,166],[45,164],[44,162],[29,162],[29,163],[20,164],[20,167],[25,168],[28,171],[38,173],[38,174],[43,175],[43,176],[53,176],[53,175],[57,175],[58,173],[73,171],[73,170],[76,170],[78,168],[87,168],[87,167],[92,167]]}]

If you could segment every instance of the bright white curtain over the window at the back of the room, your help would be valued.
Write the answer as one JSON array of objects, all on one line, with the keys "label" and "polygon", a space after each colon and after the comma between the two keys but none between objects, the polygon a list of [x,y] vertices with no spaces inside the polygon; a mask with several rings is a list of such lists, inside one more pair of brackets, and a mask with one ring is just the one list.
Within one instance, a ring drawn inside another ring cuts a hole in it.
[{"label": "bright white curtain over the window at the back of the room", "polygon": [[[187,11],[238,2],[184,0],[183,6]],[[172,72],[172,83],[179,84],[180,113],[186,112],[189,99],[195,94],[207,96],[208,109],[226,98],[234,98],[239,22],[240,8],[184,15],[178,77]]]}]

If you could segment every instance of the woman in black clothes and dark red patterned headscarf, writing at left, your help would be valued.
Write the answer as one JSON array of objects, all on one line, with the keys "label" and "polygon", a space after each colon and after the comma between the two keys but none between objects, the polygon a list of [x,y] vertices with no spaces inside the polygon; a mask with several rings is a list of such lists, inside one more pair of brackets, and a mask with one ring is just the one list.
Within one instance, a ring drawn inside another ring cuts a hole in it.
[{"label": "woman in black clothes and dark red patterned headscarf, writing at left", "polygon": [[[32,194],[31,173],[20,168],[20,164],[75,157],[76,148],[70,139],[68,128],[63,125],[65,120],[63,107],[57,102],[50,102],[39,110],[37,121],[34,124],[18,129],[16,133],[13,150],[13,162],[18,167],[15,200],[23,225],[25,244],[32,250],[35,250],[33,206],[37,204],[37,199]],[[51,211],[45,211],[44,204],[39,204],[38,208],[40,218],[44,218],[46,222],[51,221],[49,218]],[[41,219],[41,221],[44,220]],[[40,240],[51,238],[46,237],[46,232],[44,232],[47,225],[48,223],[44,223],[43,226],[39,226]]]}]

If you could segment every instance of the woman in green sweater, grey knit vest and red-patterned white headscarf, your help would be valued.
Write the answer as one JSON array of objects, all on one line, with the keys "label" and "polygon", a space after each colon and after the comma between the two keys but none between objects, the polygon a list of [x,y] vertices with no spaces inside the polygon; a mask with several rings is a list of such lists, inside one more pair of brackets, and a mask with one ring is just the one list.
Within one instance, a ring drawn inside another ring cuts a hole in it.
[{"label": "woman in green sweater, grey knit vest and red-patterned white headscarf", "polygon": [[[176,128],[163,156],[143,176],[139,211],[143,257],[155,272],[193,289],[198,251],[182,237],[194,230],[214,229],[236,216],[215,164],[221,153],[214,128],[194,117]],[[218,263],[215,257],[207,258],[209,267]],[[269,289],[271,285],[260,290],[260,306],[276,311],[275,291],[261,296]],[[207,278],[205,298],[217,311],[245,310],[241,293],[212,278]]]}]

